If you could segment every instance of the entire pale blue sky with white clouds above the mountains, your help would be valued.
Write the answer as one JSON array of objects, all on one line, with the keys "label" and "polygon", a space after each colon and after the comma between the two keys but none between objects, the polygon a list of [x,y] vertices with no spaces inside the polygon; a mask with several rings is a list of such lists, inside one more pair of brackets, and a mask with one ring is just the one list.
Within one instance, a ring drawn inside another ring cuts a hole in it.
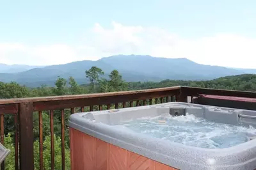
[{"label": "entire pale blue sky with white clouds above the mountains", "polygon": [[0,0],[0,63],[117,54],[256,68],[255,0]]}]

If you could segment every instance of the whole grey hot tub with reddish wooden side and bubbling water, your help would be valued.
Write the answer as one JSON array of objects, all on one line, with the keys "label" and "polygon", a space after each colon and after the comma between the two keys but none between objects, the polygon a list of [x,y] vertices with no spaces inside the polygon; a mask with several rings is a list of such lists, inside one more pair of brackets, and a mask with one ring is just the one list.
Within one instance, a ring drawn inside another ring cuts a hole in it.
[{"label": "whole grey hot tub with reddish wooden side and bubbling water", "polygon": [[256,111],[171,102],[80,112],[69,126],[76,170],[256,169]]}]

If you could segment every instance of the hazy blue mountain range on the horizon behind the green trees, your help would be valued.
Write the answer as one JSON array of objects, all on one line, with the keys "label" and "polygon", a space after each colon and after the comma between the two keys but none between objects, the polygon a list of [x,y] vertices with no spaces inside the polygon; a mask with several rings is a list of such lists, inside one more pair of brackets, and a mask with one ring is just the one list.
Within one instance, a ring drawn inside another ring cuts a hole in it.
[{"label": "hazy blue mountain range on the horizon behind the green trees", "polygon": [[65,79],[72,76],[77,83],[88,82],[85,70],[92,66],[101,68],[105,75],[116,69],[125,81],[162,81],[173,80],[209,80],[227,75],[256,73],[253,69],[225,68],[222,66],[200,65],[186,58],[154,58],[152,56],[111,56],[97,61],[76,61],[65,65],[26,66],[0,64],[0,81],[16,81],[29,87],[42,84],[53,86],[61,76]]}]

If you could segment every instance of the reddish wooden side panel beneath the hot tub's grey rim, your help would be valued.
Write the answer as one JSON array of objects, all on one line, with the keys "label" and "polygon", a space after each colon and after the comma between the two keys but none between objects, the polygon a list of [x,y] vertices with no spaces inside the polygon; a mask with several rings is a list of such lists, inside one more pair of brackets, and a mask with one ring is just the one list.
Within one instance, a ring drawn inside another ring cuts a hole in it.
[{"label": "reddish wooden side panel beneath the hot tub's grey rim", "polygon": [[177,170],[70,128],[73,170]]}]

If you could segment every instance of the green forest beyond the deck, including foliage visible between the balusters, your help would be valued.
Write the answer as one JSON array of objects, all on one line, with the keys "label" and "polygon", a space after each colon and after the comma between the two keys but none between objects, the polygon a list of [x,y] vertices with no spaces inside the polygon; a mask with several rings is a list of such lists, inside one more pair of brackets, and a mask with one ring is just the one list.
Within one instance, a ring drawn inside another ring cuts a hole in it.
[{"label": "green forest beyond the deck, including foliage visible between the balusters", "polygon": [[[42,84],[38,88],[28,88],[20,86],[17,82],[4,83],[0,82],[0,98],[21,98],[21,97],[45,97],[54,95],[75,95],[82,93],[99,93],[109,91],[126,91],[132,89],[149,89],[163,88],[169,86],[194,86],[202,88],[220,88],[220,89],[237,89],[246,91],[256,91],[256,75],[244,74],[230,77],[221,77],[212,81],[173,81],[165,80],[161,82],[126,82],[122,79],[122,75],[118,70],[113,70],[109,75],[105,75],[100,68],[92,66],[84,73],[84,79],[90,84],[79,86],[73,77],[64,79],[56,77],[55,86],[49,87]],[[105,76],[102,76],[105,75]],[[108,77],[102,78],[102,77]],[[88,111],[88,110],[87,110]],[[70,116],[70,111],[65,110],[65,123]],[[38,112],[34,113],[34,137],[35,137],[35,169],[39,169],[39,129],[38,129]],[[60,111],[54,111],[54,147],[55,147],[55,166],[61,169],[61,114]],[[4,144],[12,152],[6,160],[6,169],[14,169],[14,146],[13,146],[13,116],[4,115]],[[43,132],[44,132],[44,167],[51,165],[51,138],[49,128],[49,112],[43,112]],[[65,157],[66,167],[70,167],[69,155],[69,136],[68,130],[65,132]]]}]

